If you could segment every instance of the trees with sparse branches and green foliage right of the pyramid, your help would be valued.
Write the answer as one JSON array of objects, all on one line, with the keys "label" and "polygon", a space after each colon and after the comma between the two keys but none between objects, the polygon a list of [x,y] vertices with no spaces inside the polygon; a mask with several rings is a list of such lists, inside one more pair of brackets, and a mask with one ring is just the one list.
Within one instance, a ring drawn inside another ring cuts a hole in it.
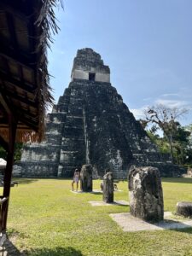
[{"label": "trees with sparse branches and green foliage right of the pyramid", "polygon": [[[178,119],[188,113],[185,108],[167,108],[156,105],[145,111],[145,119],[140,119],[148,136],[160,148],[161,153],[170,154],[174,163],[192,164],[192,125],[183,127]],[[148,129],[148,125],[151,124]],[[158,135],[158,130],[163,137]]]}]

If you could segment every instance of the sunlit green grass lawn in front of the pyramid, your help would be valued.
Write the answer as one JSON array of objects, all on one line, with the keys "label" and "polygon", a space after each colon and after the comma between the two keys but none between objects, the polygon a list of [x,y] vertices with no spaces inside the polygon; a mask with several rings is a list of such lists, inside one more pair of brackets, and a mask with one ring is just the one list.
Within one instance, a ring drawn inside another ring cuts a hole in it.
[{"label": "sunlit green grass lawn in front of the pyramid", "polygon": [[[64,179],[20,179],[11,188],[8,234],[27,255],[192,255],[192,229],[123,232],[109,213],[129,207],[92,207],[102,195],[73,194]],[[100,181],[94,181],[99,189]],[[127,183],[114,200],[127,200]],[[192,179],[164,178],[165,211],[177,201],[192,201]]]}]

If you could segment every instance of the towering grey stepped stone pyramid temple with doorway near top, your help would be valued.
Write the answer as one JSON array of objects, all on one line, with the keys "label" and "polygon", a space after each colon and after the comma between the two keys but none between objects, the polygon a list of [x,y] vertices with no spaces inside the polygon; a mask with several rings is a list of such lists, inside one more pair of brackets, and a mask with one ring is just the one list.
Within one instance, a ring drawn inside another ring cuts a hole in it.
[{"label": "towering grey stepped stone pyramid temple with doorway near top", "polygon": [[101,55],[79,49],[71,77],[47,116],[45,141],[26,144],[15,176],[72,177],[84,164],[92,165],[95,177],[110,171],[125,178],[131,165],[159,166],[163,176],[176,172],[110,84]]}]

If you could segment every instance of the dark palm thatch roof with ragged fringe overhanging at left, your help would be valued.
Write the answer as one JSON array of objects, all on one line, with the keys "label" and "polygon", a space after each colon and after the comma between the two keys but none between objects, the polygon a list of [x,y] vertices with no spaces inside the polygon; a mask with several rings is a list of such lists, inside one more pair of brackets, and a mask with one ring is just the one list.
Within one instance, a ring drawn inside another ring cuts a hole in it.
[{"label": "dark palm thatch roof with ragged fringe overhanging at left", "polygon": [[46,49],[58,31],[59,3],[0,1],[0,141],[9,140],[9,113],[17,123],[17,141],[43,138],[45,109],[53,102]]}]

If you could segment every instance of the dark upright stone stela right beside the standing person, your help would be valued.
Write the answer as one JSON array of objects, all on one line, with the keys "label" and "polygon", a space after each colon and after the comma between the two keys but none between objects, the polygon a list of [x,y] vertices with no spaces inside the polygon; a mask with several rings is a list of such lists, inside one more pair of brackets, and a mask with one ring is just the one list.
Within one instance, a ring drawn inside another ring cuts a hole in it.
[{"label": "dark upright stone stela right beside the standing person", "polygon": [[91,192],[93,187],[92,182],[92,166],[84,165],[81,168],[80,179],[81,179],[81,189],[84,192]]}]

